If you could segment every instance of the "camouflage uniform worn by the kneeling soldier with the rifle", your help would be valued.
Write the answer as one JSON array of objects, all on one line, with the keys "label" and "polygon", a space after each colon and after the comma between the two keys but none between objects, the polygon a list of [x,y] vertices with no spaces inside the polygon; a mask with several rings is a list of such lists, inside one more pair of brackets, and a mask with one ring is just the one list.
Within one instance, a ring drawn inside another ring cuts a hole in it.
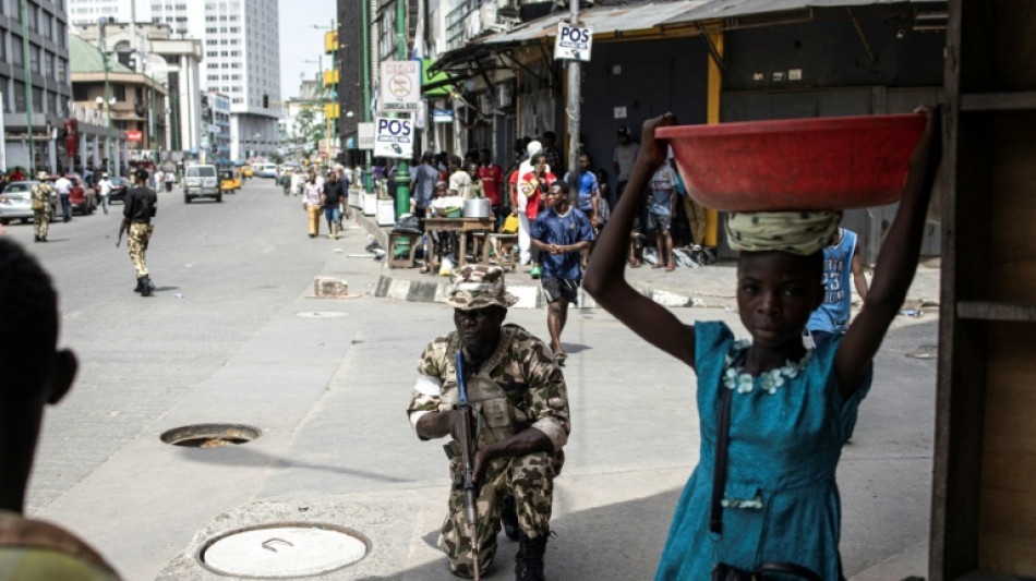
[{"label": "camouflage uniform worn by the kneeling soldier with the rifle", "polygon": [[[466,267],[466,269],[471,267]],[[484,267],[473,267],[484,268]],[[502,287],[501,287],[502,290]],[[455,298],[456,299],[456,298]],[[469,296],[470,301],[471,298]],[[475,301],[480,299],[474,299]],[[456,301],[451,301],[454,303]],[[431,411],[455,408],[457,380],[455,358],[460,349],[456,332],[439,337],[429,343],[418,364],[418,384],[410,399],[408,413],[411,423]],[[467,360],[472,361],[466,352]],[[499,532],[499,499],[514,496],[517,499],[518,524],[528,537],[546,535],[550,532],[551,505],[554,476],[564,463],[562,447],[570,431],[568,395],[565,378],[554,361],[550,348],[529,331],[517,325],[501,328],[501,341],[496,351],[487,358],[478,372],[469,370],[469,391],[472,384],[490,380],[506,395],[507,412],[514,424],[507,429],[517,434],[527,427],[542,431],[553,443],[553,452],[533,452],[513,458],[492,460],[482,476],[479,491],[478,536],[479,564],[485,571],[496,554],[496,535]],[[484,402],[489,406],[489,401]],[[493,421],[486,408],[473,403],[480,414],[475,439],[482,447],[506,435],[494,435]],[[445,446],[449,457],[449,473],[454,482],[449,495],[449,515],[443,524],[438,546],[449,558],[450,570],[461,577],[472,577],[471,538],[465,520],[465,498],[460,459],[460,446],[450,440]]]}]

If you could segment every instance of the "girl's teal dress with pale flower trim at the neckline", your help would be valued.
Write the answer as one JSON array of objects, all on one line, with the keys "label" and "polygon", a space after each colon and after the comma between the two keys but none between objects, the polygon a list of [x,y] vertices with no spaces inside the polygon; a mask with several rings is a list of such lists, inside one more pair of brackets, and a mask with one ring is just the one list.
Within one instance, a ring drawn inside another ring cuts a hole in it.
[{"label": "girl's teal dress with pale flower trim at the neckline", "polygon": [[[838,580],[841,506],[834,473],[871,372],[843,401],[834,377],[841,339],[834,338],[784,374],[749,380],[727,371],[748,343],[735,341],[726,324],[698,322],[695,332],[700,460],[676,506],[655,579],[701,581],[710,579],[716,562],[755,570],[764,561],[784,561]],[[735,392],[723,533],[718,535],[709,531],[709,512],[725,384]]]}]

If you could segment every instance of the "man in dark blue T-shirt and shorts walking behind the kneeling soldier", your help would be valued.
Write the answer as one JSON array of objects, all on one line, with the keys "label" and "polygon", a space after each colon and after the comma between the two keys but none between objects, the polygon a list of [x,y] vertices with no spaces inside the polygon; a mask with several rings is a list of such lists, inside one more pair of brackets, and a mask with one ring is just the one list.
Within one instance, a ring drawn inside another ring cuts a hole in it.
[{"label": "man in dark blue T-shirt and shorts walking behind the kneeling soldier", "polygon": [[564,181],[551,185],[546,211],[537,217],[530,235],[532,247],[540,251],[540,282],[550,301],[546,328],[551,332],[551,350],[558,364],[564,364],[568,353],[562,348],[562,330],[568,320],[568,304],[578,298],[582,280],[580,253],[593,241],[590,219],[573,207]]}]

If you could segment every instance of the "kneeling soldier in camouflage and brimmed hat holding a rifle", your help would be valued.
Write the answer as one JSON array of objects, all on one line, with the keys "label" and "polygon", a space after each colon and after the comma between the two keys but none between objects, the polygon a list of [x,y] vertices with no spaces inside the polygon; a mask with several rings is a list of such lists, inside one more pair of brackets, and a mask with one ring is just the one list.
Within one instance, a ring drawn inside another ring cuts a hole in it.
[{"label": "kneeling soldier in camouflage and brimmed hat holding a rifle", "polygon": [[[518,299],[506,291],[501,268],[465,266],[451,282],[446,302],[454,307],[456,331],[425,348],[407,409],[422,440],[453,436],[444,448],[454,486],[438,546],[454,574],[478,579],[496,555],[503,516],[506,529],[518,529],[515,579],[542,580],[554,477],[570,431],[565,378],[546,343],[504,325]],[[458,363],[467,387],[467,404],[460,406]],[[461,445],[469,439],[473,446]],[[477,498],[473,526],[465,501],[466,465]],[[511,522],[506,501],[516,505]]]}]

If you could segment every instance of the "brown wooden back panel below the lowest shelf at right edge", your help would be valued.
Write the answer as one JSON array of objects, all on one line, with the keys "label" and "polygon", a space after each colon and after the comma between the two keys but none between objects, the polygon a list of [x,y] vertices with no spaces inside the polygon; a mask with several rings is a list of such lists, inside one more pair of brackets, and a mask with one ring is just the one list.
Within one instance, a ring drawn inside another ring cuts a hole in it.
[{"label": "brown wooden back panel below the lowest shelf at right edge", "polygon": [[1036,336],[1027,326],[989,325],[979,519],[979,568],[1036,571]]}]

